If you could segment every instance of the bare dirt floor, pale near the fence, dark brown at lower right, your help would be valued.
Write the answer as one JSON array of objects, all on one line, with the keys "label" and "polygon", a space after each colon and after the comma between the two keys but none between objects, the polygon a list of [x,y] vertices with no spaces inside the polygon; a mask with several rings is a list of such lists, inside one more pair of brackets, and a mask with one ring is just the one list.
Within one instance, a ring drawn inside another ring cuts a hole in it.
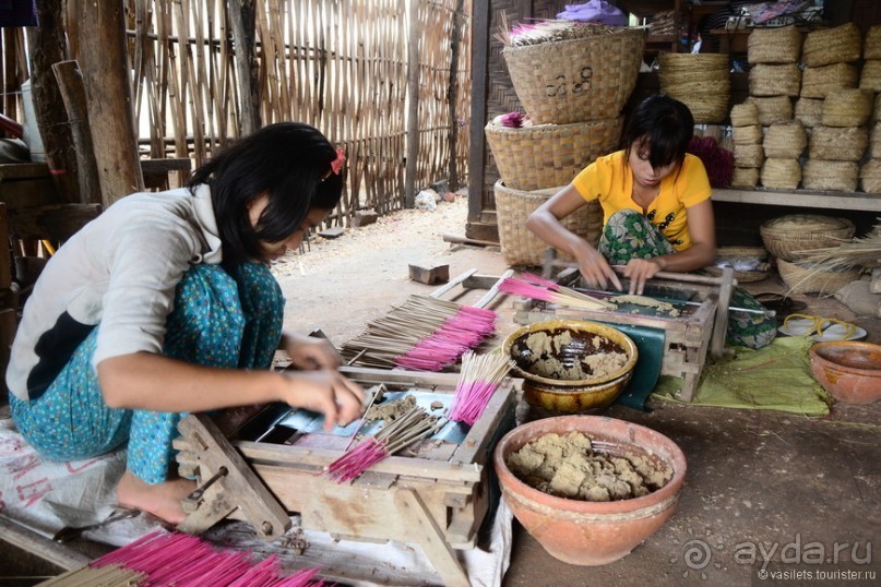
[{"label": "bare dirt floor, pale near the fence, dark brown at lower right", "polygon": [[[469,268],[501,275],[508,267],[497,248],[443,241],[444,233],[464,236],[466,214],[462,196],[336,239],[313,238],[303,254],[274,266],[287,298],[287,326],[320,328],[342,345],[409,295],[438,287],[409,280],[409,264],[449,264],[451,276]],[[775,278],[751,286],[784,290]],[[483,294],[457,288],[444,298],[473,303]],[[854,316],[831,299],[795,299],[808,312],[853,320],[869,342],[881,344],[877,319]],[[501,340],[519,325],[511,300],[497,298],[495,309]],[[819,420],[658,399],[648,407],[614,405],[605,415],[657,430],[682,448],[688,477],[675,516],[624,559],[597,567],[557,561],[515,523],[505,586],[878,584],[881,403],[840,404]],[[519,417],[531,419],[529,412],[521,402]]]}]

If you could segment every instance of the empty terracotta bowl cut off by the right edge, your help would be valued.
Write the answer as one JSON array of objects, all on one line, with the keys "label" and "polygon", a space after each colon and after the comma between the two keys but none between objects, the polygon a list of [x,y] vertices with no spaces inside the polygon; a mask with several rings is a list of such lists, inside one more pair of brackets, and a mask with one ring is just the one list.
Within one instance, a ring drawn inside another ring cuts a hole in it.
[{"label": "empty terracotta bowl cut off by the right edge", "polygon": [[812,345],[808,352],[814,379],[838,402],[881,399],[881,345],[830,340]]}]

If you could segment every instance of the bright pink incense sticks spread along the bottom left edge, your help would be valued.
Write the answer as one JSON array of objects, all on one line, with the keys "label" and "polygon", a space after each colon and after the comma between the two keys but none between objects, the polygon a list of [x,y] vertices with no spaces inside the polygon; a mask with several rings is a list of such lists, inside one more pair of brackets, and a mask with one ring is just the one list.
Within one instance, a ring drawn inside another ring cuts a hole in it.
[{"label": "bright pink incense sticks spread along the bottom left edge", "polygon": [[283,576],[275,556],[251,560],[250,552],[218,550],[186,534],[155,530],[126,547],[40,583],[51,587],[320,587],[318,568]]}]

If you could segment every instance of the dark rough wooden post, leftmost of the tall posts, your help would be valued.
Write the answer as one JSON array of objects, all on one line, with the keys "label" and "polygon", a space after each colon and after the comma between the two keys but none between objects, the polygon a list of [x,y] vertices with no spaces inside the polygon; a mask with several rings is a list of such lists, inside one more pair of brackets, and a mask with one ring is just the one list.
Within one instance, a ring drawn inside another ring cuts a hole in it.
[{"label": "dark rough wooden post, leftmost of the tall posts", "polygon": [[31,92],[34,118],[46,151],[46,163],[52,171],[52,182],[63,202],[81,201],[76,178],[76,149],[68,127],[68,113],[52,75],[51,65],[66,59],[63,0],[37,2],[39,26],[28,26],[27,52],[31,61]]}]

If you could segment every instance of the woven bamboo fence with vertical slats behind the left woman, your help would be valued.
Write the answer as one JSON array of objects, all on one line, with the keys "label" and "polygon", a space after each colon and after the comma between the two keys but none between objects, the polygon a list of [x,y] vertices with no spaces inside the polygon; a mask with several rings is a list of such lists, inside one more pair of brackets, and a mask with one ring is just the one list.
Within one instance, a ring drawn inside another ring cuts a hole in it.
[{"label": "woven bamboo fence with vertical slats behind the left woman", "polygon": [[[189,157],[199,166],[241,129],[248,84],[236,69],[230,2],[123,2],[142,156]],[[471,109],[472,0],[254,4],[260,123],[308,122],[347,153],[346,191],[331,224],[344,225],[359,209],[388,214],[405,205],[410,43],[418,44],[414,183],[418,190],[449,179],[459,187],[468,151],[460,128]],[[3,112],[20,118],[25,37],[21,28],[0,34]]]}]

